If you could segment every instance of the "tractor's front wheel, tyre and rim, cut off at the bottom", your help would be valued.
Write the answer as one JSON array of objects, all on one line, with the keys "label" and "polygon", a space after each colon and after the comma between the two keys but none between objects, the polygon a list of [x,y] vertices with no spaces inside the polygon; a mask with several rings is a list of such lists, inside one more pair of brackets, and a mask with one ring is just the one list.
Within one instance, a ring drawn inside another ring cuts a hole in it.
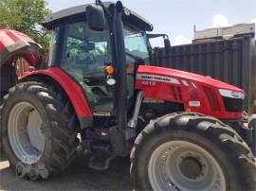
[{"label": "tractor's front wheel, tyre and rim, cut off at the bottom", "polygon": [[140,132],[131,152],[137,190],[255,190],[247,144],[221,121],[172,113]]}]

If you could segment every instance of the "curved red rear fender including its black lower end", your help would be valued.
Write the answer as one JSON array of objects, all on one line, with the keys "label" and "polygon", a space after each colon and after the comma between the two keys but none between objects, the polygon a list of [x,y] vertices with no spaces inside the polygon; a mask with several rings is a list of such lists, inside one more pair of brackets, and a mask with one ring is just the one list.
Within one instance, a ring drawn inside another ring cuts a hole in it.
[{"label": "curved red rear fender including its black lower end", "polygon": [[92,113],[82,87],[61,68],[51,67],[46,70],[27,72],[20,80],[26,81],[28,78],[51,78],[56,81],[69,97],[80,120],[81,128],[83,129],[91,126]]}]

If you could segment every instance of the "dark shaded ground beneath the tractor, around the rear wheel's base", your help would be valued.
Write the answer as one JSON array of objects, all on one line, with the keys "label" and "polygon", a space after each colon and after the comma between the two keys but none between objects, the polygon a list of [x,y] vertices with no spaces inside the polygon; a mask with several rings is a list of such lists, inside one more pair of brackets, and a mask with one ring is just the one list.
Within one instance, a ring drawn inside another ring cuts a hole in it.
[{"label": "dark shaded ground beneath the tractor, around the rear wheel's base", "polygon": [[0,190],[132,190],[129,165],[128,158],[117,158],[108,170],[97,171],[89,169],[80,158],[57,177],[31,182],[18,178],[2,157]]}]

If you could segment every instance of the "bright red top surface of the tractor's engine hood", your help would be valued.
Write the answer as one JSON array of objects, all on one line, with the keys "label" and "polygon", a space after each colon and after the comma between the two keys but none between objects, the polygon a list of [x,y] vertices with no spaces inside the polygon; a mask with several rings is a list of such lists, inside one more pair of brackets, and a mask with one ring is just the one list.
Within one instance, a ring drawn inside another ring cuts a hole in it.
[{"label": "bright red top surface of the tractor's engine hood", "polygon": [[170,69],[170,68],[140,65],[137,68],[137,75],[139,75],[139,74],[148,74],[148,75],[152,75],[152,76],[156,76],[156,77],[173,78],[174,81],[176,81],[177,83],[180,83],[180,84],[182,84],[183,81],[189,81],[189,82],[193,82],[194,84],[207,85],[207,86],[215,87],[217,89],[227,89],[230,91],[244,93],[244,91],[242,89],[237,88],[228,83],[225,83],[223,81],[220,81],[220,80],[217,80],[214,78],[210,78],[210,77],[196,75],[196,74],[189,73],[189,72],[174,70],[174,69]]}]

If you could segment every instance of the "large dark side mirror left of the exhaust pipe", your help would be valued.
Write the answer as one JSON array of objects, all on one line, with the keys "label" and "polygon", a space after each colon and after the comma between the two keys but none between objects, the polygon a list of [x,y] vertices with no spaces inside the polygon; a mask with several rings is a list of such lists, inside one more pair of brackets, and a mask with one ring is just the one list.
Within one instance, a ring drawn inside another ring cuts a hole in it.
[{"label": "large dark side mirror left of the exhaust pipe", "polygon": [[106,27],[104,10],[101,6],[89,5],[86,8],[86,19],[91,30],[102,31]]}]

